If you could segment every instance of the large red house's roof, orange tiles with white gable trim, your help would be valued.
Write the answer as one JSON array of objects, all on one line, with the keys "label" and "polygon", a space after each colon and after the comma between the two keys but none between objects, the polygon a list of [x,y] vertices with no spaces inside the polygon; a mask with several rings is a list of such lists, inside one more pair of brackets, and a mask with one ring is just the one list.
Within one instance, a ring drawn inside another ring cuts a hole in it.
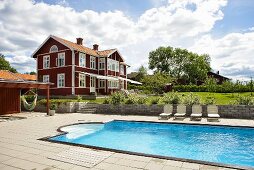
[{"label": "large red house's roof, orange tiles with white gable trim", "polygon": [[[79,45],[77,43],[71,42],[69,40],[65,40],[63,38],[54,36],[54,35],[50,35],[36,50],[35,52],[32,54],[32,57],[34,57],[35,53],[42,47],[43,44],[45,44],[49,38],[53,38],[54,40],[60,42],[61,44],[65,45],[66,47],[70,48],[71,50],[76,50],[76,51],[80,51],[80,52],[84,52],[86,54],[92,55],[92,56],[97,56],[97,57],[109,57],[111,54],[113,54],[114,52],[118,52],[119,51],[117,49],[109,49],[109,50],[102,50],[102,51],[97,51],[97,50],[93,50],[91,48],[85,47],[83,45]],[[121,56],[121,54],[119,53],[119,55]],[[123,59],[123,57],[121,56],[121,58]],[[124,60],[123,60],[124,61]]]}]

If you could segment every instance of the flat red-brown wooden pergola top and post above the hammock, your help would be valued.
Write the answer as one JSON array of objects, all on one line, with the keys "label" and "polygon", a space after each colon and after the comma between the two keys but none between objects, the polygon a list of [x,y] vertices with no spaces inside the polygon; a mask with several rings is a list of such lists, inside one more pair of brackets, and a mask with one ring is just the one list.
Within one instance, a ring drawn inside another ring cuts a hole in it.
[{"label": "flat red-brown wooden pergola top and post above the hammock", "polygon": [[[53,83],[42,83],[42,82],[36,82],[36,81],[0,80],[0,90],[1,89],[46,89],[47,90],[47,114],[49,114],[50,85],[53,85]],[[10,98],[9,100],[12,100],[11,99],[12,96],[11,95],[8,95],[8,96]],[[1,99],[1,93],[0,93],[0,99]],[[8,99],[3,99],[3,100],[8,100]],[[3,105],[3,104],[0,103],[0,105]]]}]

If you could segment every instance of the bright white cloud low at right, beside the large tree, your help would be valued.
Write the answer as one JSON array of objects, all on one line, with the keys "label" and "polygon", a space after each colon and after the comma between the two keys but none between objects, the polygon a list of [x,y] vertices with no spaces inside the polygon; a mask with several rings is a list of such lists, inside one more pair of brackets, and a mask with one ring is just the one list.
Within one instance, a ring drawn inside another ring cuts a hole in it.
[{"label": "bright white cloud low at right, beside the large tree", "polygon": [[254,76],[254,32],[231,33],[214,39],[204,35],[191,50],[212,56],[212,67],[231,78]]}]

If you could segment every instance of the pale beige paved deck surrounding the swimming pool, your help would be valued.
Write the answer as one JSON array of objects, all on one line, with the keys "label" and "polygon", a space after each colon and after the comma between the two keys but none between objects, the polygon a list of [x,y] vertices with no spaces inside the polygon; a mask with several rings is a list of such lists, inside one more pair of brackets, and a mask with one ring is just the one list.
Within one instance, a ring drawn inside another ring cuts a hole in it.
[{"label": "pale beige paved deck surrounding the swimming pool", "polygon": [[[23,112],[13,116],[26,117],[27,119],[0,122],[0,169],[91,169],[91,170],[222,170],[230,169],[216,166],[208,166],[196,163],[158,159],[144,156],[135,156],[122,153],[106,152],[110,156],[92,168],[77,166],[74,164],[56,161],[48,157],[55,156],[69,149],[79,148],[58,143],[38,140],[46,136],[57,135],[58,127],[81,122],[104,122],[113,119],[136,120],[136,121],[158,121],[158,122],[184,122],[200,124],[220,124],[236,126],[252,126],[254,120],[221,119],[220,122],[207,122],[206,119],[190,121],[158,120],[158,117],[148,116],[120,116],[120,115],[96,115],[96,114],[56,114],[46,116],[45,113]],[[92,149],[82,148],[91,151]],[[94,151],[94,150],[93,150]]]}]

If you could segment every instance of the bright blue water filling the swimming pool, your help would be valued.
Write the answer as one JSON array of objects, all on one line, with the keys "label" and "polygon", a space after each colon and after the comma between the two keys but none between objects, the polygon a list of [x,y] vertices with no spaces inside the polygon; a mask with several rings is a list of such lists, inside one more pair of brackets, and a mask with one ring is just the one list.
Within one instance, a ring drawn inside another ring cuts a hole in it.
[{"label": "bright blue water filling the swimming pool", "polygon": [[112,121],[62,130],[50,140],[254,168],[254,128]]}]

